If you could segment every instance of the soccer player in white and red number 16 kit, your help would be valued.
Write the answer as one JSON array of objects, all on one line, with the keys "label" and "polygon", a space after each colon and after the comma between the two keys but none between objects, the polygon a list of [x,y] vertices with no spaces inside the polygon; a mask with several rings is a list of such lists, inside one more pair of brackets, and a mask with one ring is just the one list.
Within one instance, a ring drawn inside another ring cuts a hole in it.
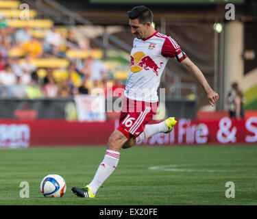
[{"label": "soccer player in white and red number 16 kit", "polygon": [[145,6],[137,6],[128,12],[132,34],[136,36],[131,51],[130,71],[125,84],[125,99],[119,127],[108,140],[108,148],[95,177],[84,188],[71,190],[80,197],[94,198],[97,190],[117,168],[121,148],[134,146],[136,142],[156,133],[169,133],[177,121],[167,118],[158,124],[147,125],[158,107],[157,90],[160,77],[169,57],[175,57],[206,92],[210,105],[218,101],[219,95],[210,88],[201,70],[191,62],[173,38],[158,33],[151,25],[153,14]]}]

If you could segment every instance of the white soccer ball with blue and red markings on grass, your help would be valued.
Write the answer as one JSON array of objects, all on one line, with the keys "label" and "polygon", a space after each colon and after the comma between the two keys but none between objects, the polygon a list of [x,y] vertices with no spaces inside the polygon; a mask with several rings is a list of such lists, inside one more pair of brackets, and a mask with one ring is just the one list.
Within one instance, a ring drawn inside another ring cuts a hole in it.
[{"label": "white soccer ball with blue and red markings on grass", "polygon": [[66,183],[60,175],[50,174],[42,179],[40,190],[47,198],[60,198],[66,192]]}]

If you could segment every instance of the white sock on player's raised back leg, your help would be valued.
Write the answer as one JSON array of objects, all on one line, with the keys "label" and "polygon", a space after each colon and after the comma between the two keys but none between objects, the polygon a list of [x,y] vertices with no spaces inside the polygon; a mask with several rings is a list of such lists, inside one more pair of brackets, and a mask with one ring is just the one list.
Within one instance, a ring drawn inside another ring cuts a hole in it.
[{"label": "white sock on player's raised back leg", "polygon": [[161,123],[153,124],[153,125],[145,125],[145,129],[138,137],[136,137],[136,142],[143,141],[151,136],[154,136],[157,133],[168,131],[169,127],[166,125],[164,121]]}]

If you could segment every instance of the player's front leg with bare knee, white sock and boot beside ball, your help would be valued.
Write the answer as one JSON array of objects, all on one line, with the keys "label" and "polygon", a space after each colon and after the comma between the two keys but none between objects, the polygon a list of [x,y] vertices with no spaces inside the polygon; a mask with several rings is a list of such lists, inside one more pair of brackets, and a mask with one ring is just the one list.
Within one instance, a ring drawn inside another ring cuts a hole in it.
[{"label": "player's front leg with bare knee, white sock and boot beside ball", "polygon": [[119,163],[119,151],[123,144],[127,142],[127,137],[121,131],[115,130],[108,140],[108,149],[99,164],[93,180],[84,188],[75,188],[71,190],[80,197],[95,198],[95,194],[100,186],[112,174]]}]

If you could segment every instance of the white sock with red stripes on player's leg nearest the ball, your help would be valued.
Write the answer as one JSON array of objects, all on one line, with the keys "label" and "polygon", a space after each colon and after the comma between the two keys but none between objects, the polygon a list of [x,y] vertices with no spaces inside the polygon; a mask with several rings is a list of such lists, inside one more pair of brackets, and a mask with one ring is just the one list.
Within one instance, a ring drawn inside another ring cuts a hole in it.
[{"label": "white sock with red stripes on player's leg nearest the ball", "polygon": [[92,193],[95,194],[104,181],[112,174],[119,162],[119,152],[106,150],[106,155],[99,165],[93,181],[88,185],[92,188]]}]

